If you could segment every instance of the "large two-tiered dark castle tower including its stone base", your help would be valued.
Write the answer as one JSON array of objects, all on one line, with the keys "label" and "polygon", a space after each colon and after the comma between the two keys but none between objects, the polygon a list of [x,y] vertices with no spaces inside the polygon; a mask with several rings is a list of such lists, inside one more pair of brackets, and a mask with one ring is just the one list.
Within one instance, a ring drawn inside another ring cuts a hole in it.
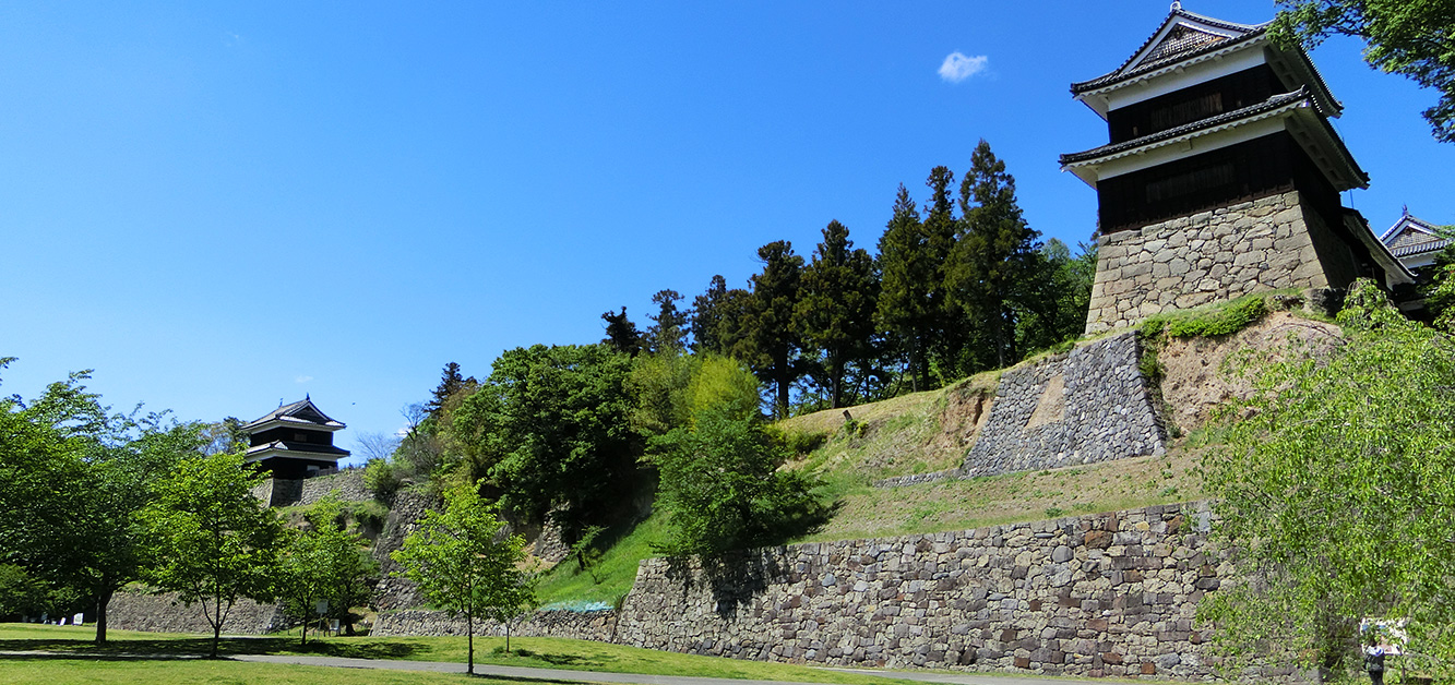
[{"label": "large two-tiered dark castle tower including its stone base", "polygon": [[1100,205],[1087,333],[1263,289],[1410,281],[1340,204],[1369,183],[1328,124],[1343,105],[1267,28],[1173,3],[1120,67],[1071,86],[1110,132],[1061,156]]}]

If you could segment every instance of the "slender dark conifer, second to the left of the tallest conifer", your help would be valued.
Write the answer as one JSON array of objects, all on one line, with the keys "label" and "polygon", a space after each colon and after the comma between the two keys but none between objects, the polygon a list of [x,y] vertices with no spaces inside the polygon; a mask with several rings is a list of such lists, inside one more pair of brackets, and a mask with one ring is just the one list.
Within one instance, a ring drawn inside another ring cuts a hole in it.
[{"label": "slender dark conifer, second to the left of the tallest conifer", "polygon": [[930,294],[938,265],[931,259],[909,191],[899,186],[893,217],[879,239],[880,289],[874,308],[876,326],[908,356],[909,384],[928,388],[925,348],[936,321]]}]

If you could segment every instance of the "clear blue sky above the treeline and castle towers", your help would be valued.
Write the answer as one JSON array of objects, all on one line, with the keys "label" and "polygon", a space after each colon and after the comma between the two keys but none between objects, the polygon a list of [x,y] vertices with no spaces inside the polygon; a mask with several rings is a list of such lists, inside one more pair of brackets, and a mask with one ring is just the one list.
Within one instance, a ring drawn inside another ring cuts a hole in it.
[{"label": "clear blue sky above the treeline and castle towers", "polygon": [[[1115,10],[1112,9],[1115,7]],[[1186,7],[1261,22],[1266,1]],[[391,432],[441,366],[602,337],[662,288],[742,285],[758,246],[873,249],[986,138],[1035,228],[1096,221],[1056,154],[1068,95],[1165,1],[6,3],[0,391],[73,369],[115,407],[252,419],[311,393]],[[973,74],[940,76],[947,55]],[[1435,97],[1331,41],[1314,61],[1384,228],[1455,223]],[[978,71],[976,71],[978,70]]]}]

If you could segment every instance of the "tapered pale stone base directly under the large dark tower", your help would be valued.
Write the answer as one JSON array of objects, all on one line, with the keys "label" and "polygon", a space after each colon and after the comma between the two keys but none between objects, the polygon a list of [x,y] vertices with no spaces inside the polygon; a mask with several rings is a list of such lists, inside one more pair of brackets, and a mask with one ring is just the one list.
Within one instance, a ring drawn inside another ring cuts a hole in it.
[{"label": "tapered pale stone base directly under the large dark tower", "polygon": [[1311,231],[1328,230],[1291,191],[1101,236],[1085,332],[1254,291],[1342,287],[1328,269],[1347,256],[1321,260]]}]

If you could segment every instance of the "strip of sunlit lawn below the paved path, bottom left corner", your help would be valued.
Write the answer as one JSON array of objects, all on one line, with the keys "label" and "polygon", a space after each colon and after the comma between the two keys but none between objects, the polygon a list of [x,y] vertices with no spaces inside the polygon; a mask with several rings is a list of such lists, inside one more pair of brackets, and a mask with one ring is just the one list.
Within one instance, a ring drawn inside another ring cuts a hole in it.
[{"label": "strip of sunlit lawn below the paved path, bottom left corner", "polygon": [[[538,681],[492,678],[502,685],[540,685]],[[413,673],[402,670],[336,669],[281,663],[227,660],[97,660],[0,657],[0,682],[7,685],[419,685],[479,682],[464,673]]]}]

